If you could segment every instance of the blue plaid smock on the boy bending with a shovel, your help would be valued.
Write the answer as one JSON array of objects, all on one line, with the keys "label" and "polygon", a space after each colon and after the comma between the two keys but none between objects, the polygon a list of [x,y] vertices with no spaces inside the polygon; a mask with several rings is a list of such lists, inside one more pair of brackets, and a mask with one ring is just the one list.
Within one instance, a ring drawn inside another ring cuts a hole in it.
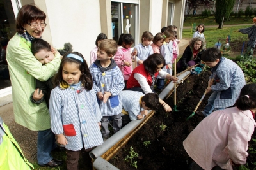
[{"label": "blue plaid smock on the boy bending with a shovel", "polygon": [[210,78],[214,78],[217,83],[212,85],[211,90],[218,92],[214,101],[214,108],[233,106],[245,85],[243,71],[235,62],[224,57],[213,70]]}]

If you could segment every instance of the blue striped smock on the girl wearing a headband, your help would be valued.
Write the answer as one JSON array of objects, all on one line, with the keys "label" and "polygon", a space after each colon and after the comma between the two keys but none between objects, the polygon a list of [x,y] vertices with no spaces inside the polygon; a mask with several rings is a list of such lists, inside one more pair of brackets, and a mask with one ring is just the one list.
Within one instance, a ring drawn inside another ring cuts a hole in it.
[{"label": "blue striped smock on the girl wearing a headband", "polygon": [[[81,90],[77,93],[77,90]],[[51,92],[49,113],[54,134],[63,134],[63,125],[73,124],[76,136],[67,136],[68,150],[92,148],[103,143],[98,122],[102,118],[94,90],[55,87]]]}]

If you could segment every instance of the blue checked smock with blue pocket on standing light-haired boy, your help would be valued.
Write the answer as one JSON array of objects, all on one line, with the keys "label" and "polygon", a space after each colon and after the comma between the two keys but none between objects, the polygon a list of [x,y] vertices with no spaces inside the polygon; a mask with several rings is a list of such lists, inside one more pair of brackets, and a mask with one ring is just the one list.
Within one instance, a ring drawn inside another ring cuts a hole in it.
[{"label": "blue checked smock with blue pocket on standing light-haired boy", "polygon": [[100,111],[103,116],[118,115],[122,111],[122,101],[120,99],[120,92],[124,89],[124,77],[118,66],[113,67],[107,71],[100,70],[96,64],[90,66],[90,72],[92,73],[93,89],[95,94],[97,92],[111,92],[112,96],[108,101],[104,103],[99,101]]}]

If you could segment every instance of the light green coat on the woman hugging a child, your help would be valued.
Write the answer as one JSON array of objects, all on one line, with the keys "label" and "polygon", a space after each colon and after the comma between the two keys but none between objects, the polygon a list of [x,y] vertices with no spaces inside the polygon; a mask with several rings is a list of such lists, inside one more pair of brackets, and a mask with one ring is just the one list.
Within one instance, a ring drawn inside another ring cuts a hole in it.
[{"label": "light green coat on the woman hugging a child", "polygon": [[6,59],[12,83],[13,112],[15,122],[30,130],[45,130],[51,127],[50,115],[45,101],[35,104],[30,95],[35,91],[35,80],[46,81],[60,66],[60,55],[42,66],[30,50],[31,43],[15,34],[10,39]]}]

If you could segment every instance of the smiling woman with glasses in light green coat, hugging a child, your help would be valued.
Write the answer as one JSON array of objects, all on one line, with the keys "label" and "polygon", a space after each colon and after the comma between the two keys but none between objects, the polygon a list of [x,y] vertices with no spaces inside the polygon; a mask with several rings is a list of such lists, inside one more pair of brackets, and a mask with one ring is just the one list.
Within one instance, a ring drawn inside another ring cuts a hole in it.
[{"label": "smiling woman with glasses in light green coat, hugging a child", "polygon": [[30,101],[30,95],[35,91],[35,80],[48,80],[60,66],[60,53],[56,52],[51,62],[42,65],[30,50],[31,41],[42,37],[46,27],[45,18],[44,11],[36,6],[20,8],[16,19],[17,33],[8,43],[6,59],[12,82],[15,122],[31,131],[38,131],[38,164],[53,167],[62,164],[62,161],[51,156],[56,143],[47,105],[45,102],[35,104]]}]

